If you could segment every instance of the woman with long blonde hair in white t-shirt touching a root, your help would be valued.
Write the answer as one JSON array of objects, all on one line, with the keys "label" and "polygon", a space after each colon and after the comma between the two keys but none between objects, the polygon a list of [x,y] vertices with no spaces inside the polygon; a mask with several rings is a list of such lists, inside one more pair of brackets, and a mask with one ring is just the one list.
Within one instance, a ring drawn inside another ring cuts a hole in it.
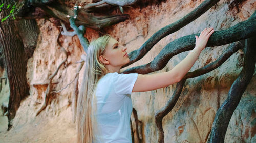
[{"label": "woman with long blonde hair in white t-shirt touching a root", "polygon": [[109,35],[91,42],[78,98],[78,142],[132,142],[131,92],[159,89],[179,82],[198,59],[214,32],[203,30],[195,48],[172,70],[151,75],[119,74],[130,59]]}]

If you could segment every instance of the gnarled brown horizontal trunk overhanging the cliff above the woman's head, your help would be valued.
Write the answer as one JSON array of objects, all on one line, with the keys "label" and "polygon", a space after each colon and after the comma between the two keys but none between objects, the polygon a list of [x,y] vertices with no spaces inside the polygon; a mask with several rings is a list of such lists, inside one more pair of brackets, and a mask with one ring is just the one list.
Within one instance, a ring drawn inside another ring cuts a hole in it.
[{"label": "gnarled brown horizontal trunk overhanging the cliff above the woman's head", "polygon": [[[20,17],[26,19],[35,18],[50,18],[55,17],[66,23],[69,23],[70,16],[73,15],[73,8],[70,8],[63,4],[62,1],[20,1],[17,4],[17,14]],[[128,19],[127,14],[122,15],[105,15],[100,16],[86,12],[86,9],[81,8],[79,17],[76,20],[76,24],[84,25],[95,30],[110,26],[121,21]]]}]

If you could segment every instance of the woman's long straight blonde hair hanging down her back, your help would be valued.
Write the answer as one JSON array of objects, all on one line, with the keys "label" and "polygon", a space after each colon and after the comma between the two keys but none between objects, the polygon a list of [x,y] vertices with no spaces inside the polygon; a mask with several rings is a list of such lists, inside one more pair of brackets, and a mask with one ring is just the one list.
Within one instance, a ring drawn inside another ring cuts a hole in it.
[{"label": "woman's long straight blonde hair hanging down her back", "polygon": [[103,55],[110,38],[109,35],[102,36],[91,42],[88,47],[86,67],[77,104],[78,143],[92,143],[95,140],[94,112],[96,107],[92,102],[96,100],[94,90],[98,80],[108,73],[104,63],[99,60],[99,56]]}]

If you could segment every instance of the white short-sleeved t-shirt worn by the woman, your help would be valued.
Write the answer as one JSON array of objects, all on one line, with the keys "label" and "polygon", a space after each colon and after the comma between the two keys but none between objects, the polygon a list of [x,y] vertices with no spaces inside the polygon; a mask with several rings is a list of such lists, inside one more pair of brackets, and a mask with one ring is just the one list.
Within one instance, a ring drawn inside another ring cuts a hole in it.
[{"label": "white short-sleeved t-shirt worn by the woman", "polygon": [[[98,142],[132,142],[130,118],[131,93],[138,74],[108,73],[96,87]],[[95,142],[95,143],[96,143]]]}]

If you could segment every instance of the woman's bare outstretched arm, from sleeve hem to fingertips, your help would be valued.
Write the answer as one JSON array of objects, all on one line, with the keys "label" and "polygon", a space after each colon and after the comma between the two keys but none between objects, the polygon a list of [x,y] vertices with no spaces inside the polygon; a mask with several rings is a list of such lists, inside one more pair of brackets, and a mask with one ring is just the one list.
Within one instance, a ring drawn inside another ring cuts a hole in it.
[{"label": "woman's bare outstretched arm, from sleeve hem to fingertips", "polygon": [[151,75],[139,74],[132,92],[156,90],[179,82],[197,61],[212,33],[214,33],[214,28],[205,28],[199,37],[196,36],[195,48],[172,70]]}]

